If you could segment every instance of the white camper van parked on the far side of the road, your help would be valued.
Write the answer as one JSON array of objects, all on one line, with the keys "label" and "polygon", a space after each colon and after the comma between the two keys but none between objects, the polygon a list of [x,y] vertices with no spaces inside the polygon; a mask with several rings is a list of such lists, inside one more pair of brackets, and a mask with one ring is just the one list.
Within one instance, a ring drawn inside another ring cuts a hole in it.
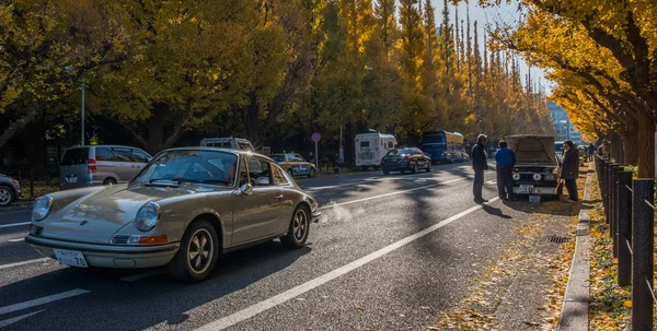
[{"label": "white camper van parked on the far side of the road", "polygon": [[367,169],[379,169],[381,158],[388,151],[396,147],[396,139],[392,134],[360,133],[356,135],[356,166]]}]

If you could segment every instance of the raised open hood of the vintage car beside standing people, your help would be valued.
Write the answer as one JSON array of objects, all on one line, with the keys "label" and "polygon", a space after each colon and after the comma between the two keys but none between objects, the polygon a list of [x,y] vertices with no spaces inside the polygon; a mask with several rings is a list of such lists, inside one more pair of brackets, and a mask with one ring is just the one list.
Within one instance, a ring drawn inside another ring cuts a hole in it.
[{"label": "raised open hood of the vintage car beside standing people", "polygon": [[509,149],[516,152],[517,165],[556,166],[554,137],[551,135],[510,135]]}]

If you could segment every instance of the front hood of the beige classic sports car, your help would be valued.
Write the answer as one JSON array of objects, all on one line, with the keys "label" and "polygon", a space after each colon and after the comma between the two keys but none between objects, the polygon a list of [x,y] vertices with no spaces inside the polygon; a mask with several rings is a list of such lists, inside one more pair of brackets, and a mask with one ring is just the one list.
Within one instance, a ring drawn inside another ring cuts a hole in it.
[{"label": "front hood of the beige classic sports car", "polygon": [[147,202],[160,204],[186,196],[215,191],[204,186],[115,185],[51,194],[51,214],[35,225],[44,227],[43,236],[55,239],[108,244],[112,236],[134,222],[137,211]]}]

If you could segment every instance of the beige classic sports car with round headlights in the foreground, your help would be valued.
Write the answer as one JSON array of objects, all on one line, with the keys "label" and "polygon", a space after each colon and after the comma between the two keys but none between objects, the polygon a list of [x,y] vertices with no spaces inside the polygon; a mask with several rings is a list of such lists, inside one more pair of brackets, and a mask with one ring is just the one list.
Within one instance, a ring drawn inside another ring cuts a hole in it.
[{"label": "beige classic sports car with round headlights in the foreground", "polygon": [[223,252],[274,238],[303,247],[320,215],[316,201],[266,156],[173,149],[128,184],[38,198],[25,241],[62,264],[166,264],[174,277],[198,282]]}]

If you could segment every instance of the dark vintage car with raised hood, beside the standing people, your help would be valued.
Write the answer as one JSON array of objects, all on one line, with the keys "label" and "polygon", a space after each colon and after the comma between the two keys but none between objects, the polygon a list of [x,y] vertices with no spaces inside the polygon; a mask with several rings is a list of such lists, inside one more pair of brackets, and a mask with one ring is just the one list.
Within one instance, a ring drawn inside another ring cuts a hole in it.
[{"label": "dark vintage car with raised hood, beside the standing people", "polygon": [[516,166],[511,176],[516,196],[546,196],[558,199],[558,159],[552,135],[510,135],[509,149],[516,152]]}]

